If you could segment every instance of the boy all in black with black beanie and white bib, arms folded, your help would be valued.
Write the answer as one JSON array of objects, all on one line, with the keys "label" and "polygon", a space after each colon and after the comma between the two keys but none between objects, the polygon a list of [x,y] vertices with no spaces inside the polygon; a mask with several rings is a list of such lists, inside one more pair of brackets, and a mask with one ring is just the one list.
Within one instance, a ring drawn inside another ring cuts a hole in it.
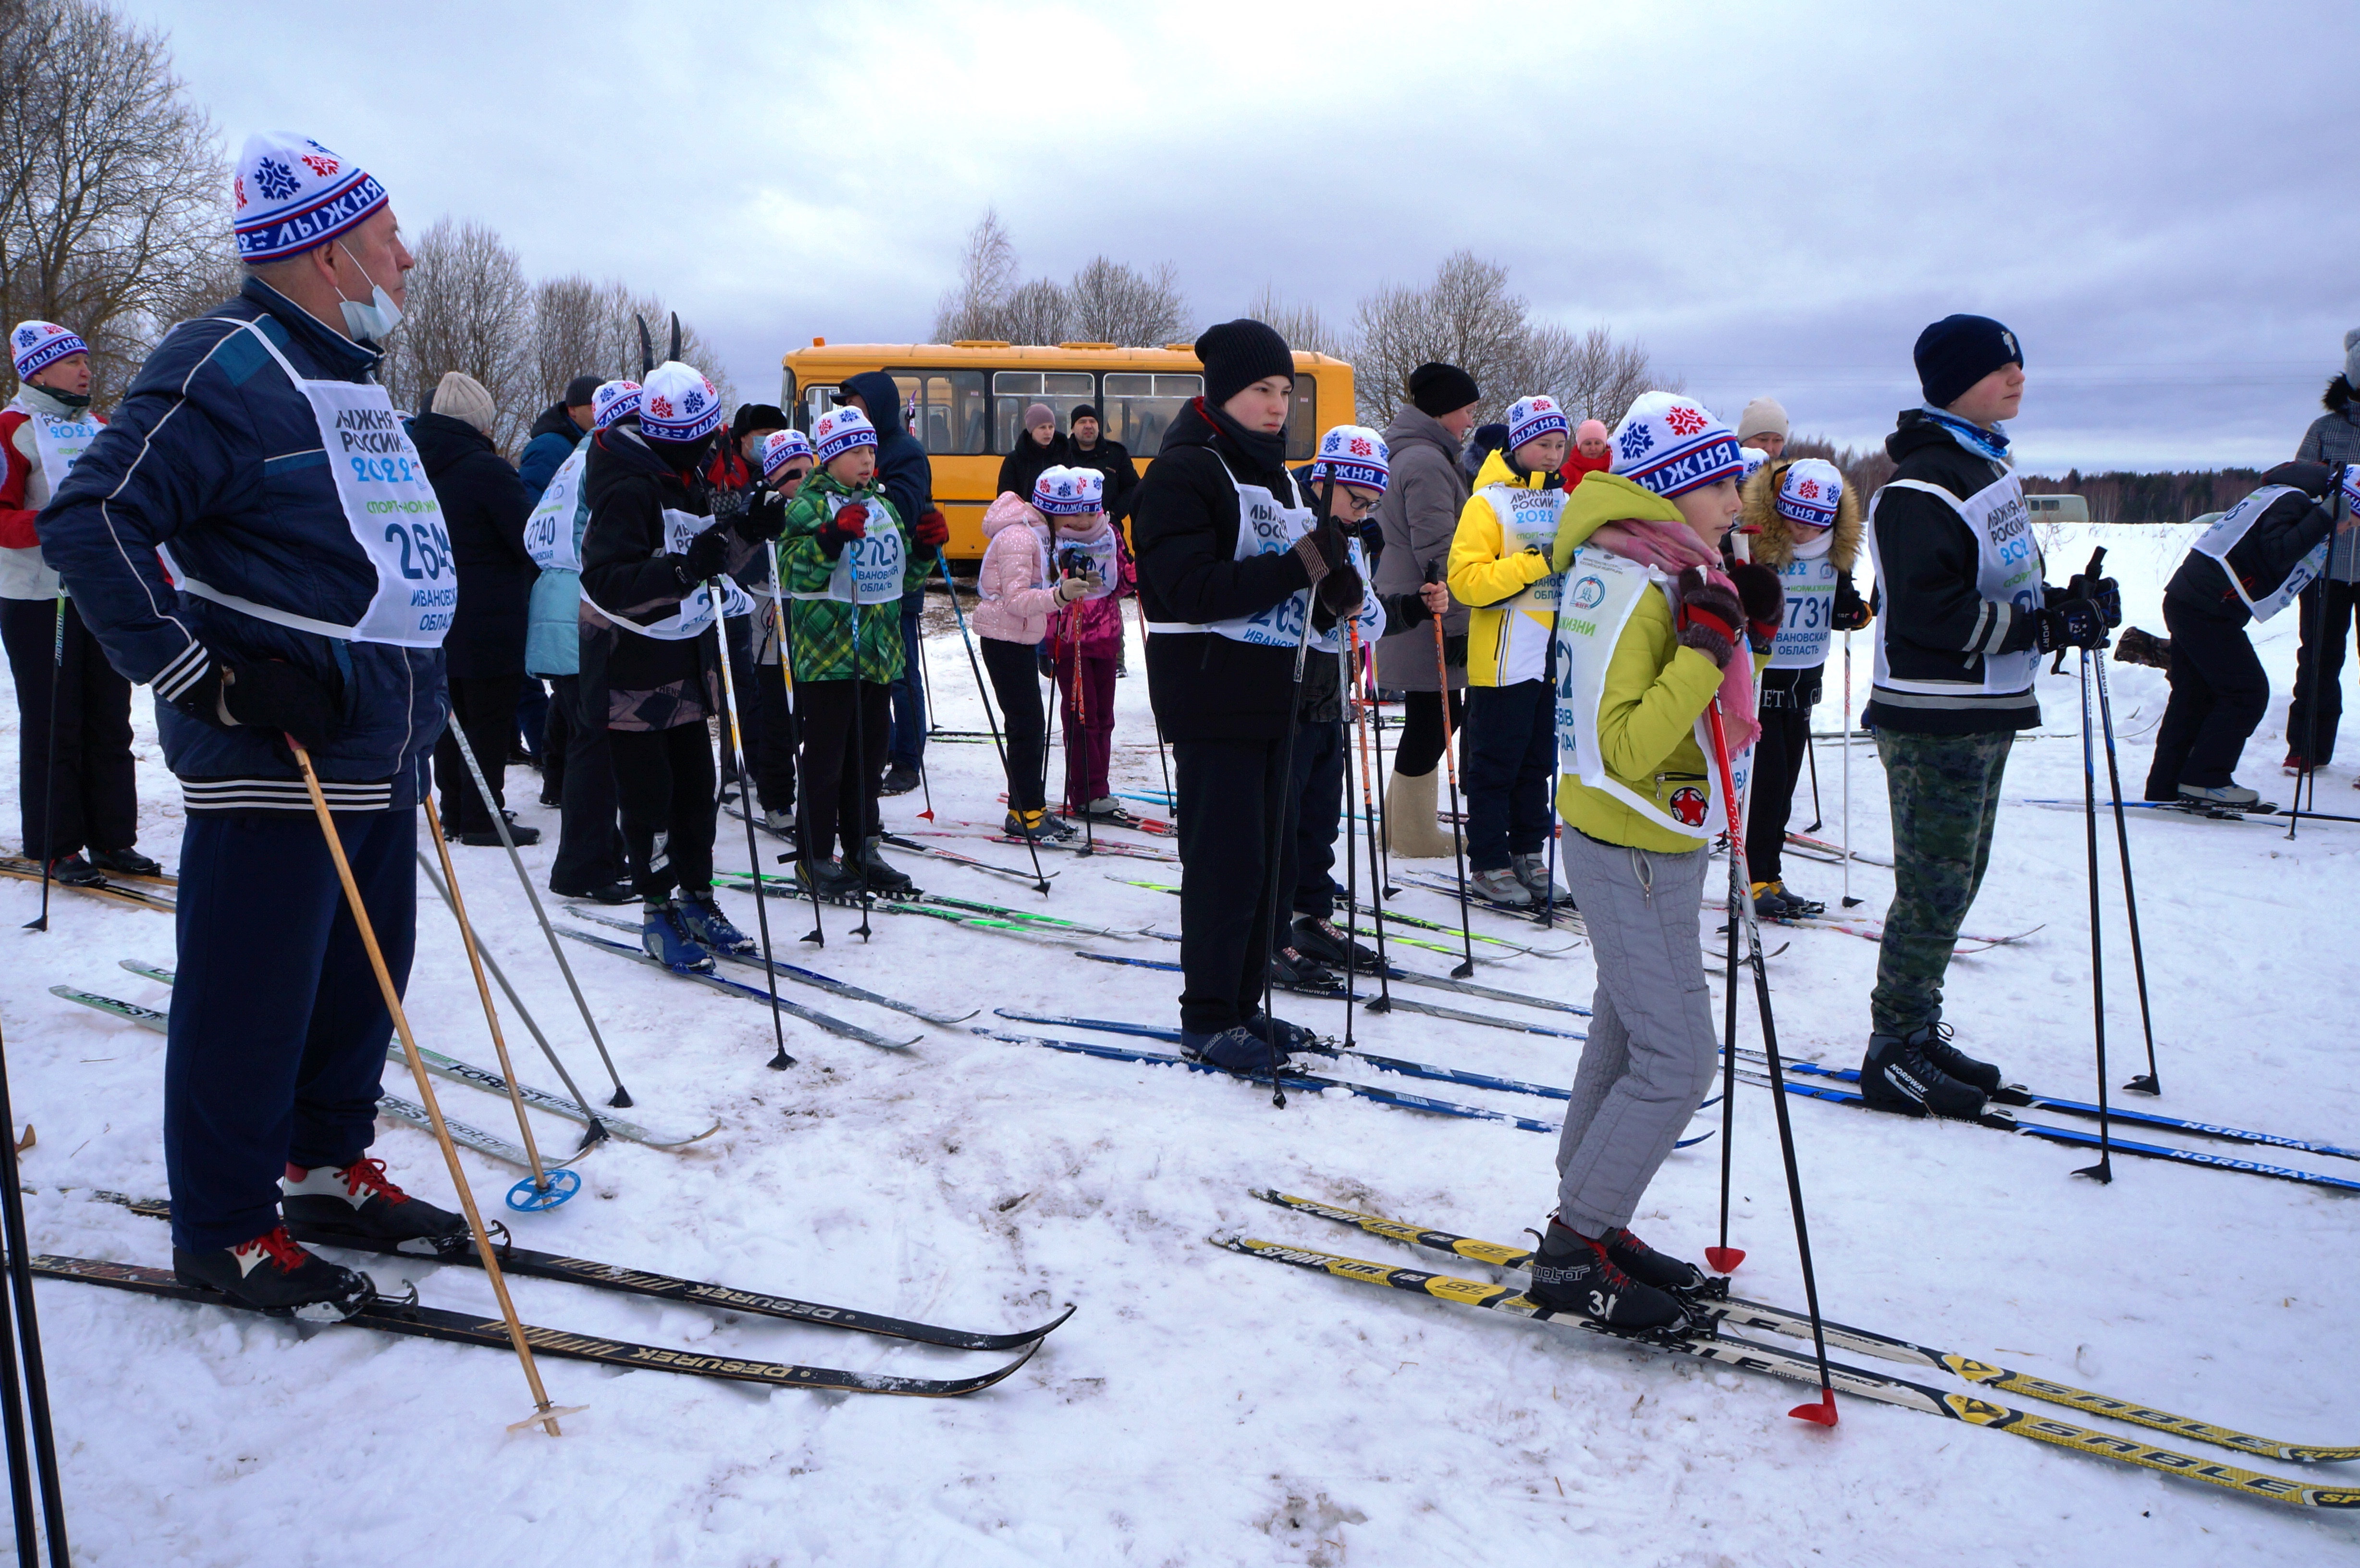
[{"label": "boy all in black with black beanie and white bib, arms folded", "polygon": [[1296,361],[1260,321],[1197,338],[1204,397],[1140,482],[1133,541],[1147,612],[1147,694],[1173,744],[1180,819],[1182,1051],[1274,1070],[1305,1037],[1265,1018],[1270,890],[1293,831],[1284,775],[1305,616],[1331,623],[1362,583],[1336,522],[1286,472]]}]

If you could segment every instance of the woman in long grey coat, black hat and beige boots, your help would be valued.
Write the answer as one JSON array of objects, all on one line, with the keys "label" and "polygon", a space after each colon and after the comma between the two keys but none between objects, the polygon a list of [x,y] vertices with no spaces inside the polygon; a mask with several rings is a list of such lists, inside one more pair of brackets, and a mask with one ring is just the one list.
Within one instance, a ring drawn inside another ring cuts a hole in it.
[{"label": "woman in long grey coat, black hat and beige boots", "polygon": [[[1461,444],[1475,425],[1482,390],[1449,364],[1421,364],[1409,373],[1409,401],[1385,425],[1392,449],[1392,484],[1376,517],[1385,550],[1376,560],[1378,593],[1416,593],[1425,569],[1449,557],[1468,479],[1458,470]],[[1451,605],[1442,616],[1449,659],[1451,732],[1466,713],[1468,612]],[[1435,668],[1433,626],[1381,638],[1376,682],[1407,692],[1402,744],[1392,753],[1385,786],[1385,845],[1404,857],[1451,852],[1451,836],[1435,824],[1435,767],[1442,763],[1442,671]]]}]

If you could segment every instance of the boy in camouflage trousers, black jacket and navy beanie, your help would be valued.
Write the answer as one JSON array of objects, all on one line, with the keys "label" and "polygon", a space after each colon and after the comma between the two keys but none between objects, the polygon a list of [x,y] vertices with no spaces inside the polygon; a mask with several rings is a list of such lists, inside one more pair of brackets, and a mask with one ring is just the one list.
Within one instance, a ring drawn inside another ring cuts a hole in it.
[{"label": "boy in camouflage trousers, black jacket and navy beanie", "polygon": [[2041,583],[2001,430],[2025,399],[2015,333],[1945,316],[1914,359],[1926,401],[1886,437],[1897,468],[1869,503],[1881,614],[1864,718],[1893,801],[1893,907],[1860,1093],[1876,1110],[1973,1119],[2001,1077],[1949,1044],[1942,975],[1992,857],[2008,746],[2041,723],[2039,656],[2103,647],[2122,600],[2112,581]]}]

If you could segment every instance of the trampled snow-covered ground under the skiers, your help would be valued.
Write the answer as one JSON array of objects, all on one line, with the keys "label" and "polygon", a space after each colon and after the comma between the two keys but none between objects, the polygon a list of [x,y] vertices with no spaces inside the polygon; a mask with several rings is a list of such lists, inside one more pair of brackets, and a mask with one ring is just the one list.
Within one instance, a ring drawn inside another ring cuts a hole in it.
[{"label": "trampled snow-covered ground under the skiers", "polygon": [[[2110,545],[2133,623],[2162,631],[2157,600],[2183,548],[2174,529],[2065,529],[2051,576]],[[2242,782],[2284,801],[2277,777],[2294,616],[2256,638],[2275,701]],[[1869,682],[1855,640],[1855,690]],[[1133,649],[1121,682],[1119,786],[1159,786],[1147,682]],[[982,727],[956,633],[930,640],[939,723]],[[2136,798],[2162,713],[2155,671],[2110,666]],[[2041,682],[2046,725],[2008,767],[2008,796],[2082,793],[2072,671]],[[142,845],[175,860],[179,796],[139,694]],[[1857,708],[1855,708],[1857,711]],[[1834,692],[1820,727],[1836,727]],[[14,723],[0,753],[14,751]],[[2346,746],[2355,753],[2360,746]],[[994,753],[937,741],[937,815],[996,819]],[[0,756],[0,779],[14,782]],[[1838,836],[1841,749],[1820,749],[1827,836]],[[536,779],[510,793],[548,838]],[[2320,789],[2355,810],[2351,760]],[[2103,777],[2100,777],[2103,791]],[[913,827],[923,801],[887,803]],[[14,793],[0,801],[14,841]],[[1152,808],[1149,808],[1152,810]],[[1156,812],[1161,815],[1161,812]],[[1808,791],[1798,824],[1808,819]],[[1886,845],[1869,746],[1853,751],[1853,822]],[[725,819],[722,860],[746,845]],[[2107,864],[2115,1079],[2143,1046],[2129,947]],[[2351,930],[2360,827],[2280,829],[2133,819],[2148,975],[2166,1098],[2157,1110],[2360,1143],[2351,1072]],[[1128,836],[1126,836],[1128,838]],[[963,845],[1003,864],[1005,845]],[[573,1074],[597,1058],[529,921],[505,857],[455,850],[491,949]],[[909,862],[942,893],[1022,902],[961,869]],[[1447,862],[1435,862],[1447,864]],[[1045,909],[1112,926],[1163,926],[1178,904],[1112,881],[1178,881],[1178,867],[1057,855]],[[1838,871],[1789,862],[1798,890],[1834,902]],[[1853,869],[1862,914],[1886,871]],[[420,883],[411,1013],[420,1037],[491,1060],[458,937]],[[750,900],[725,895],[753,928]],[[94,1188],[165,1190],[158,1143],[163,1039],[47,994],[54,982],[165,1006],[165,987],[116,968],[172,961],[156,914],[59,895],[50,935],[19,933],[38,890],[0,883],[7,945],[0,1013],[35,1242],[168,1263],[165,1228],[92,1200]],[[1404,909],[1454,919],[1447,900]],[[1971,928],[2041,926],[2020,947],[1952,968],[1961,1044],[2011,1077],[2091,1098],[2089,897],[2077,812],[2011,808]],[[564,919],[564,916],[557,916]],[[1017,1006],[1168,1023],[1175,975],[1083,963],[1069,945],[876,916],[850,937],[828,912],[826,952],[791,954],[831,975],[939,1006]],[[1520,928],[1477,916],[1484,928]],[[1716,916],[1699,916],[1709,937]],[[774,914],[800,935],[807,914]],[[1876,947],[1782,930],[1772,961],[1789,1053],[1855,1065]],[[1088,942],[1171,959],[1166,942]],[[1588,1001],[1588,949],[1487,963],[1492,985]],[[687,1152],[609,1145],[585,1193],[548,1216],[507,1216],[522,1242],[732,1285],[963,1327],[1015,1327],[1079,1304],[1005,1384],[965,1400],[890,1400],[741,1386],[663,1372],[616,1374],[543,1360],[552,1396],[588,1405],[566,1436],[510,1433],[529,1410],[505,1353],[295,1332],[215,1308],[85,1285],[42,1285],[40,1308],[66,1500],[83,1563],[2325,1563],[2360,1556],[2353,1516],[2301,1516],[2211,1488],[2119,1469],[1956,1422],[1843,1400],[1822,1431],[1787,1419],[1777,1384],[1610,1346],[1435,1301],[1355,1287],[1218,1252],[1244,1230],[1421,1268],[1482,1268],[1362,1237],[1253,1202],[1251,1185],[1336,1200],[1433,1226],[1517,1240],[1553,1197],[1553,1138],[1449,1122],[1345,1096],[1296,1096],[1199,1074],[1109,1065],[961,1030],[925,1030],[894,1056],[788,1023],[791,1072],[769,1072],[765,1011],[569,949],[623,1074],[651,1119],[722,1131]],[[1449,959],[1409,949],[1440,973]],[[878,1027],[906,1023],[791,992]],[[1433,997],[1433,994],[1428,994]],[[1433,997],[1451,1001],[1449,997]],[[1475,1004],[1489,1006],[1489,1004]],[[1746,1018],[1751,1020],[1751,1001]],[[1340,1008],[1293,1001],[1340,1027]],[[1515,1011],[1515,1008],[1499,1008]],[[1534,1013],[1541,1023],[1574,1023]],[[989,1011],[977,1023],[991,1023]],[[1744,1025],[1751,1032],[1751,1023]],[[522,1030],[522,1077],[555,1089]],[[1567,1084],[1579,1046],[1430,1018],[1362,1018],[1376,1051]],[[1376,1074],[1364,1074],[1378,1082]],[[406,1074],[404,1074],[406,1079]],[[399,1089],[389,1072],[387,1084]],[[1437,1089],[1409,1084],[1404,1089]],[[486,1129],[505,1105],[437,1084]],[[399,1089],[408,1093],[408,1089]],[[1442,1089],[1447,1098],[1551,1117],[1543,1100]],[[1718,1112],[1711,1112],[1718,1122]],[[2242,1174],[2117,1159],[2112,1188],[2074,1181],[2079,1150],[1973,1126],[1794,1103],[1817,1278],[1829,1315],[2015,1370],[2152,1400],[2289,1440],[2360,1440],[2351,1301],[2360,1292],[2346,1197]],[[569,1124],[538,1122],[543,1148]],[[2225,1152],[2230,1145],[2204,1145]],[[430,1141],[389,1126],[378,1152],[448,1202]],[[2273,1155],[2263,1155],[2273,1157]],[[467,1157],[481,1202],[514,1171]],[[2348,1162],[2289,1155],[2336,1176]],[[1713,1240],[1718,1143],[1676,1155],[1635,1228],[1683,1254]],[[1735,1240],[1739,1287],[1801,1306],[1768,1093],[1742,1093]],[[491,1313],[467,1268],[371,1259],[385,1285]],[[514,1282],[529,1322],[699,1351],[878,1372],[977,1370],[958,1355],[828,1329],[632,1304]],[[1853,1358],[1857,1360],[1857,1358]],[[1869,1363],[1874,1365],[1874,1363]],[[1930,1381],[1945,1381],[1930,1377]],[[2011,1400],[2020,1403],[2023,1400]],[[2041,1410],[2039,1405],[2030,1405]],[[2072,1412],[2058,1412],[2070,1419]],[[2105,1422],[2086,1419],[2105,1426]],[[2138,1436],[2124,1426],[2126,1436]],[[2204,1457],[2233,1455],[2166,1443]],[[2251,1464],[2251,1462],[2249,1462]],[[2296,1474],[2299,1466],[2270,1466]],[[2322,1466],[2310,1476],[2343,1481]]]}]

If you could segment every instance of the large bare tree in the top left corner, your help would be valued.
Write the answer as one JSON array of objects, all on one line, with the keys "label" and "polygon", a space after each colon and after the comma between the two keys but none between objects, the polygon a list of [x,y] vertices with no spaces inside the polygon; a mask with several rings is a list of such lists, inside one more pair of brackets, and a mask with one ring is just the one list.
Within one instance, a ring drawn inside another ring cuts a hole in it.
[{"label": "large bare tree in the top left corner", "polygon": [[165,35],[94,0],[0,5],[0,319],[90,345],[104,401],[219,272],[229,177]]}]

